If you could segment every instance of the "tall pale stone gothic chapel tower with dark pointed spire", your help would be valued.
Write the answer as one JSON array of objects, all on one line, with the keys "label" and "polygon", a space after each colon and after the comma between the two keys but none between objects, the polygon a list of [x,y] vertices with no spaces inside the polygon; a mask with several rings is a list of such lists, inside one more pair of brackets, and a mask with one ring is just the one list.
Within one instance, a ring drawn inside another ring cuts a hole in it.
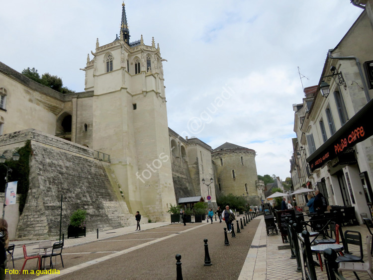
[{"label": "tall pale stone gothic chapel tower with dark pointed spire", "polygon": [[93,94],[90,147],[110,155],[131,213],[167,221],[168,206],[176,200],[162,57],[154,38],[151,46],[142,35],[129,40],[123,2],[119,38],[103,46],[97,39],[93,60],[88,56],[84,69],[85,91]]}]

